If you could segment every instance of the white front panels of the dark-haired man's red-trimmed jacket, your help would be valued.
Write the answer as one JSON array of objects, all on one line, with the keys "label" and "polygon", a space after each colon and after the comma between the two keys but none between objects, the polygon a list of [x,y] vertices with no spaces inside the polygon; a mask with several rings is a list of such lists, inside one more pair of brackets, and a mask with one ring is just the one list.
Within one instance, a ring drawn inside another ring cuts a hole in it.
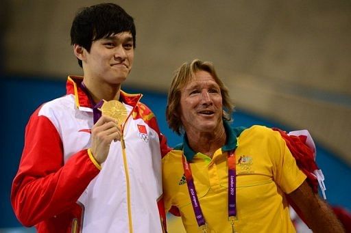
[{"label": "white front panels of the dark-haired man's red-trimmed jacket", "polygon": [[[125,107],[128,113],[132,111],[131,106]],[[77,109],[73,95],[47,102],[39,115],[49,118],[60,134],[65,163],[72,154],[90,147],[90,133],[81,130],[93,127],[93,111],[86,107]],[[147,129],[144,138],[138,131],[138,124]],[[82,232],[162,232],[157,208],[157,200],[162,195],[158,133],[143,119],[133,120],[131,115],[125,123],[123,138],[126,169],[121,142],[112,141],[101,172],[78,200],[85,208]],[[125,170],[130,179],[130,203]],[[131,208],[132,230],[129,228],[128,205]]]}]

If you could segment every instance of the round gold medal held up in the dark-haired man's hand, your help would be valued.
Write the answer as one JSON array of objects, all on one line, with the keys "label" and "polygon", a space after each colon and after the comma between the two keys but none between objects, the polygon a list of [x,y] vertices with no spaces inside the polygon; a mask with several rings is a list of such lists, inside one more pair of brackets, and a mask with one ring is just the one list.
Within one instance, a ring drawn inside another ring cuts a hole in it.
[{"label": "round gold medal held up in the dark-haired man's hand", "polygon": [[99,110],[101,111],[102,115],[108,115],[109,117],[117,120],[117,124],[119,125],[124,124],[128,116],[127,109],[125,109],[123,103],[119,102],[118,100],[104,100],[104,104]]}]

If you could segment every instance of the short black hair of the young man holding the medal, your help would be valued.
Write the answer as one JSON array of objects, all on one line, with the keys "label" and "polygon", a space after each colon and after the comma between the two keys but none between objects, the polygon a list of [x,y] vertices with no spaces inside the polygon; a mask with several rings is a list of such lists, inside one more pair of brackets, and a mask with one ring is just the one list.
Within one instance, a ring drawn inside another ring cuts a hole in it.
[{"label": "short black hair of the young man holding the medal", "polygon": [[[71,27],[71,44],[79,44],[90,52],[93,41],[123,31],[132,33],[135,48],[136,30],[132,16],[114,3],[92,5],[82,8],[75,15]],[[82,60],[78,59],[78,64],[82,67]]]}]

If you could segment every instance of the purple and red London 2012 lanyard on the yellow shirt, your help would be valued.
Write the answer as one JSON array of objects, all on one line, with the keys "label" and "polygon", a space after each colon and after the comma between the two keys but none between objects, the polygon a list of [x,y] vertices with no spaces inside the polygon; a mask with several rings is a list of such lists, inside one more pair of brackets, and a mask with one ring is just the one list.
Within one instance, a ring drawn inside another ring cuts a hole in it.
[{"label": "purple and red London 2012 lanyard on the yellow shirt", "polygon": [[[228,151],[228,220],[232,225],[232,232],[234,232],[234,219],[237,216],[237,172],[235,167],[235,153],[234,150]],[[186,178],[186,184],[188,186],[188,191],[191,199],[191,204],[193,205],[193,210],[195,213],[195,219],[199,229],[203,232],[207,232],[207,225],[202,214],[202,210],[199,204],[199,199],[197,198],[197,193],[195,190],[195,184],[193,179],[193,174],[191,173],[190,163],[186,161],[185,156],[182,156],[182,163],[184,169],[184,175]]]}]

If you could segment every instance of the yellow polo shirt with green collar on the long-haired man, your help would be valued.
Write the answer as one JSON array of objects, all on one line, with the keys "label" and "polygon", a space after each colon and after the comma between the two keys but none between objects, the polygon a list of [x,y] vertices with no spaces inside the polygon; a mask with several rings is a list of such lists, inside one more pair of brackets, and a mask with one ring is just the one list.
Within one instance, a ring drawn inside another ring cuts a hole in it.
[{"label": "yellow polo shirt with green collar on the long-haired man", "polygon": [[232,232],[228,221],[227,152],[236,148],[236,232],[295,232],[284,193],[297,189],[306,176],[296,165],[285,140],[265,126],[252,126],[244,131],[230,128],[226,122],[224,126],[227,142],[213,159],[191,150],[186,135],[182,145],[162,159],[166,210],[177,207],[186,232],[199,232],[182,167],[184,152],[191,164],[208,232]]}]

